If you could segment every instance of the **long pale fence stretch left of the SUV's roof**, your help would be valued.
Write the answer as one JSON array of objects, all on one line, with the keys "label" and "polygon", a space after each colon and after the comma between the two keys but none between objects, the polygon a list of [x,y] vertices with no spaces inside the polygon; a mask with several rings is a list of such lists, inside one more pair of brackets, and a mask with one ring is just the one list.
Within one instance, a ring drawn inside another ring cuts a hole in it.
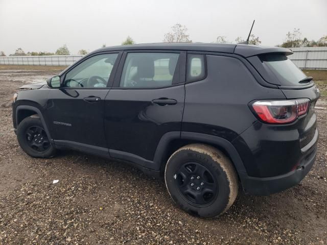
[{"label": "long pale fence stretch left of the SUV's roof", "polygon": [[0,65],[71,65],[81,55],[2,56]]}]

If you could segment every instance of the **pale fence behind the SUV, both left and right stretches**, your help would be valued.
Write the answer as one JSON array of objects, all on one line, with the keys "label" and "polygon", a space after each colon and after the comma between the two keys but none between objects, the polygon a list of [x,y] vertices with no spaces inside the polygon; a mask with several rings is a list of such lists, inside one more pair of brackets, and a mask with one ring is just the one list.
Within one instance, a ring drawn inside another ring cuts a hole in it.
[{"label": "pale fence behind the SUV, both left and right stretches", "polygon": [[[294,47],[288,56],[300,69],[327,69],[327,47]],[[4,56],[0,65],[71,65],[83,56]]]}]

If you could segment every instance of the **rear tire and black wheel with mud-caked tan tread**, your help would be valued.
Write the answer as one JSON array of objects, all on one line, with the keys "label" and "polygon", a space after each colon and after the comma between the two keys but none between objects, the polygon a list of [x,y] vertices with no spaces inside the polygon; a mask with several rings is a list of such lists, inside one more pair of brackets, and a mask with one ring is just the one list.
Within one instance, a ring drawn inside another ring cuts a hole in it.
[{"label": "rear tire and black wheel with mud-caked tan tread", "polygon": [[227,211],[237,197],[239,185],[231,161],[205,144],[185,145],[173,153],[165,168],[165,182],[174,202],[200,217],[215,217]]}]

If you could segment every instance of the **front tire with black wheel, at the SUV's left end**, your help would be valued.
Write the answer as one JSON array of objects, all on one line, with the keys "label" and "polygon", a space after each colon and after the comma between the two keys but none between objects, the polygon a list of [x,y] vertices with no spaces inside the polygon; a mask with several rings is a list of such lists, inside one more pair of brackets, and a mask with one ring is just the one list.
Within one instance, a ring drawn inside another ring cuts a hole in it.
[{"label": "front tire with black wheel, at the SUV's left end", "polygon": [[17,127],[17,139],[21,149],[31,157],[51,158],[56,153],[56,149],[45,133],[41,119],[35,115],[26,117],[20,122]]}]

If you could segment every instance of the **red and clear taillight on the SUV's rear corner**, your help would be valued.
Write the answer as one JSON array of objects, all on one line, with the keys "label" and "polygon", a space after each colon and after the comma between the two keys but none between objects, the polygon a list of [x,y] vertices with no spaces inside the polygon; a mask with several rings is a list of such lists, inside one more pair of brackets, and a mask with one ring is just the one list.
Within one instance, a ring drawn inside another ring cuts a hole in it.
[{"label": "red and clear taillight on the SUV's rear corner", "polygon": [[269,124],[288,124],[306,114],[309,106],[309,99],[256,101],[252,104],[256,115]]}]

